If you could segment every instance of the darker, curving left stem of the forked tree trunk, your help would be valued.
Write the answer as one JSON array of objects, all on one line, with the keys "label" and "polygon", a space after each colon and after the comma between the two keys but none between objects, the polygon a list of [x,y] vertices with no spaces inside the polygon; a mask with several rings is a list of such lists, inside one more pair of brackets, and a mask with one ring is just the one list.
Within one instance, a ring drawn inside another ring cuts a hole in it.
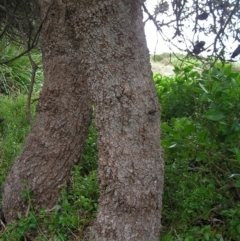
[{"label": "darker, curving left stem of the forked tree trunk", "polygon": [[26,187],[32,192],[35,208],[55,204],[79,160],[91,121],[79,44],[59,2],[39,0],[44,19],[41,46],[45,82],[36,121],[4,184],[2,208],[7,222],[18,213],[26,213],[28,204],[21,198]]}]

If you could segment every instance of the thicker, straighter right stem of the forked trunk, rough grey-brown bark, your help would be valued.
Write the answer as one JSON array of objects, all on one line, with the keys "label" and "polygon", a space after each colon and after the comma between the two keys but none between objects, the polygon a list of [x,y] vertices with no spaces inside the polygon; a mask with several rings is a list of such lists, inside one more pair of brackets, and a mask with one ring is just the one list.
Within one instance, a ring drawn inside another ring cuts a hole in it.
[{"label": "thicker, straighter right stem of the forked trunk, rough grey-brown bark", "polygon": [[84,12],[79,11],[99,136],[101,191],[87,240],[159,238],[163,190],[160,108],[141,2],[95,0],[85,5]]}]

